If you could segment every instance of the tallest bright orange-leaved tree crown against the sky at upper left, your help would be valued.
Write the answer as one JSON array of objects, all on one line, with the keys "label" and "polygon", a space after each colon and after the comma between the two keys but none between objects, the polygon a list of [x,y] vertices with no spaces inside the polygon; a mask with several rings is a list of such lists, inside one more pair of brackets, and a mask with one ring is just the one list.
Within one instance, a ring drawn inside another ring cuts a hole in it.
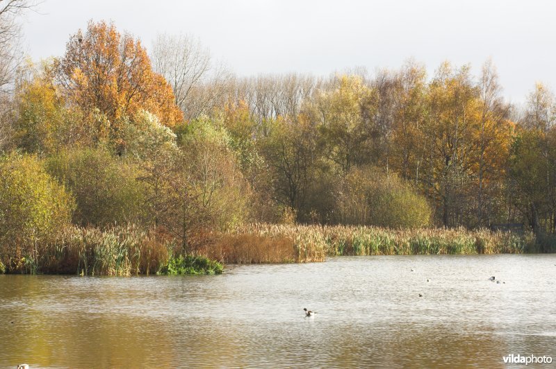
[{"label": "tallest bright orange-leaved tree crown against the sky at upper left", "polygon": [[112,139],[121,139],[122,119],[140,110],[165,126],[182,119],[172,87],[153,71],[141,42],[112,23],[89,22],[85,32],[72,35],[56,60],[56,76],[67,101],[87,114],[98,110],[106,116]]}]

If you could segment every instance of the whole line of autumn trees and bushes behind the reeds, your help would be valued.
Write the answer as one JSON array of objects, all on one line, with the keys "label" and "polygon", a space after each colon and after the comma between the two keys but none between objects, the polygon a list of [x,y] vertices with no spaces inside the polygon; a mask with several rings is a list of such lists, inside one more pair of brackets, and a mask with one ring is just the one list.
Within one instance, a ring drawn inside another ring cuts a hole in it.
[{"label": "whole line of autumn trees and bushes behind the reeds", "polygon": [[490,61],[240,78],[191,37],[149,54],[90,22],[5,85],[3,243],[64,222],[155,227],[183,248],[254,222],[556,232],[555,96],[507,103]]}]

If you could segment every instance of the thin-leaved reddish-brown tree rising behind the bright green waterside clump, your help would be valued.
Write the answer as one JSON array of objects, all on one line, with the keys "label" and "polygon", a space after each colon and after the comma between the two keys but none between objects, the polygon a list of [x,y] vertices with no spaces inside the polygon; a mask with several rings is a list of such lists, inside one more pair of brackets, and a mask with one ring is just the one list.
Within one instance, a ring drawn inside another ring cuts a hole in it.
[{"label": "thin-leaved reddish-brown tree rising behind the bright green waterside clump", "polygon": [[161,225],[184,250],[199,236],[228,230],[249,216],[250,187],[238,168],[227,132],[208,119],[191,122],[178,136],[172,177],[165,189],[168,204]]}]

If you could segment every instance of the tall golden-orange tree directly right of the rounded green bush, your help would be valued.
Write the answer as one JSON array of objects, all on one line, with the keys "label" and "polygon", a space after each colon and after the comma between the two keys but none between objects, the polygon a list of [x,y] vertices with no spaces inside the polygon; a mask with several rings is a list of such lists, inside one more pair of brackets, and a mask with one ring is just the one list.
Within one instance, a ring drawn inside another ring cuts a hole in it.
[{"label": "tall golden-orange tree directly right of the rounded green bush", "polygon": [[468,66],[454,69],[448,62],[436,71],[427,95],[430,110],[424,128],[427,143],[425,182],[436,202],[441,223],[462,223],[471,189],[473,132],[479,124],[477,89]]}]

